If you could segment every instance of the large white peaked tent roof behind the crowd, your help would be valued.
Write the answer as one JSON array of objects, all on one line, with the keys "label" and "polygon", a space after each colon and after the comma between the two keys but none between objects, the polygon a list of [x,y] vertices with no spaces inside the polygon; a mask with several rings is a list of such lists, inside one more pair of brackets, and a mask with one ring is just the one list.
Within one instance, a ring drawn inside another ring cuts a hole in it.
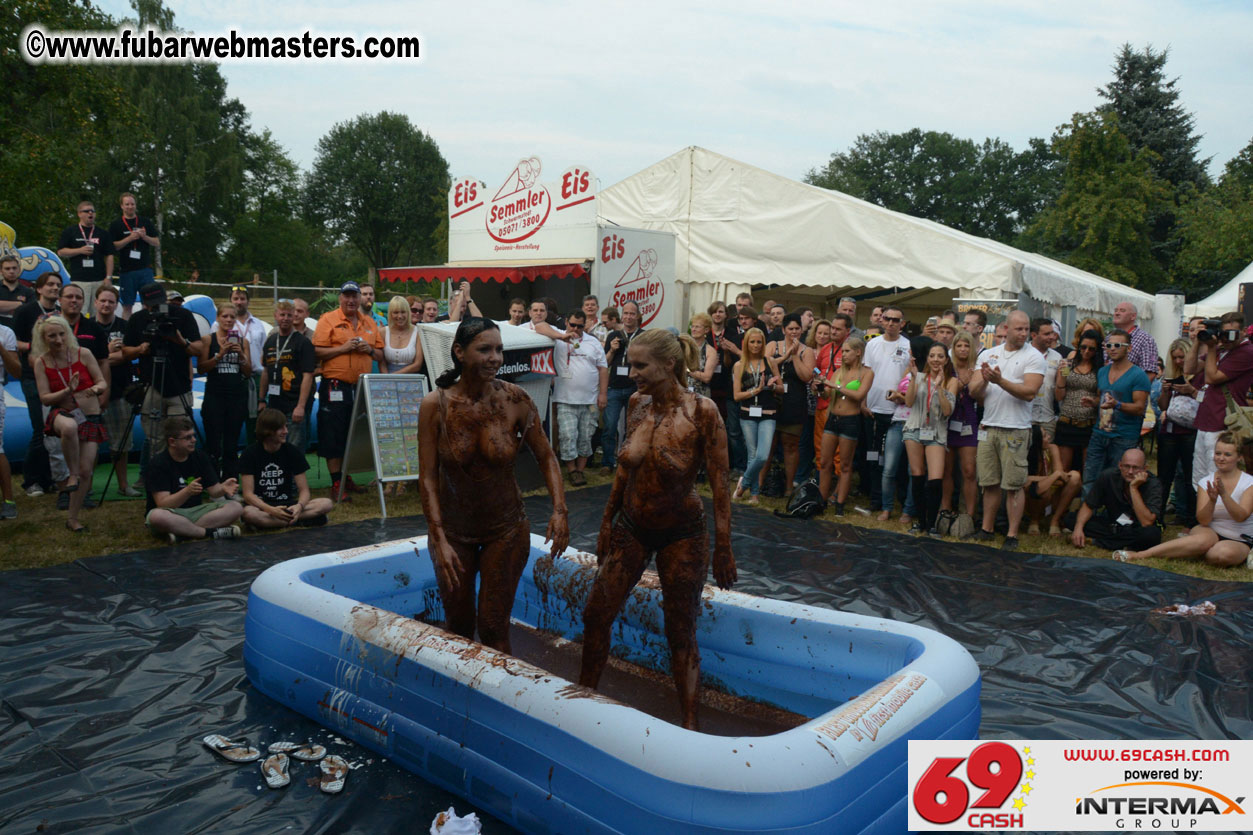
[{"label": "large white peaked tent roof behind the crowd", "polygon": [[613,223],[677,236],[679,281],[881,288],[1004,298],[1026,291],[1051,305],[1109,312],[1153,296],[1053,258],[892,212],[689,147],[599,194]]}]

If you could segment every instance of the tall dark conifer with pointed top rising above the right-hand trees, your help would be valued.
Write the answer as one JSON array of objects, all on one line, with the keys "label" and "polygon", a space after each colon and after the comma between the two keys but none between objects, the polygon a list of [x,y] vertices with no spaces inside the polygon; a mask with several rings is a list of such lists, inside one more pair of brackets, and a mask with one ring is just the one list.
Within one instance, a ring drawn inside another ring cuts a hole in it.
[{"label": "tall dark conifer with pointed top rising above the right-hand trees", "polygon": [[1157,154],[1153,171],[1160,179],[1175,187],[1190,183],[1203,188],[1209,183],[1209,158],[1197,158],[1200,135],[1192,114],[1179,103],[1179,79],[1165,78],[1169,54],[1169,49],[1155,53],[1152,46],[1138,53],[1123,44],[1114,80],[1096,90],[1105,99],[1096,110],[1118,117],[1133,152],[1148,148]]}]

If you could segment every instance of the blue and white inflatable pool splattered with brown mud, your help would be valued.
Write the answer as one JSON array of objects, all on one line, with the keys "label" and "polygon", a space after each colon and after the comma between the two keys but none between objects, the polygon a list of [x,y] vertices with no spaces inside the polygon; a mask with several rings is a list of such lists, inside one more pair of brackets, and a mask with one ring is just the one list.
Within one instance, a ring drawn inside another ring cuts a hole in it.
[{"label": "blue and white inflatable pool splattered with brown mud", "polygon": [[[533,537],[515,636],[576,641],[595,558],[545,554]],[[425,538],[266,570],[248,597],[244,666],[271,698],[523,831],[903,832],[906,741],[976,736],[970,654],[895,621],[712,587],[702,603],[705,683],[799,715],[794,726],[688,731],[432,626],[442,607]],[[614,656],[668,670],[652,573]]]}]

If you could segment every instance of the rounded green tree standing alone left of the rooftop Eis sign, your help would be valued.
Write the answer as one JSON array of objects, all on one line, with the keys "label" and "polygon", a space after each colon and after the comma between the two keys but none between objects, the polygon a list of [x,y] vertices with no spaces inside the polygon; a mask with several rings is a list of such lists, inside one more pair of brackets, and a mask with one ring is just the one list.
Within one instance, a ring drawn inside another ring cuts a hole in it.
[{"label": "rounded green tree standing alone left of the rooftop Eis sign", "polygon": [[360,115],[318,140],[304,213],[333,243],[361,251],[372,270],[442,262],[432,236],[449,183],[439,145],[407,117]]}]

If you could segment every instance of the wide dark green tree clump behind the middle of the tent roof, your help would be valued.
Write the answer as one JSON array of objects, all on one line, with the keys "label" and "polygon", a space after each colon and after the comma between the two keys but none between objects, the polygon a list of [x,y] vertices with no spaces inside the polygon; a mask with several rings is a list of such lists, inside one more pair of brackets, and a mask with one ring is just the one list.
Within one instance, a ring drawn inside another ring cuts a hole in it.
[{"label": "wide dark green tree clump behind the middle of the tent roof", "polygon": [[1000,139],[976,144],[913,128],[857,137],[806,182],[860,197],[895,212],[1011,242],[1056,192],[1058,160],[1034,140],[1016,153]]}]

